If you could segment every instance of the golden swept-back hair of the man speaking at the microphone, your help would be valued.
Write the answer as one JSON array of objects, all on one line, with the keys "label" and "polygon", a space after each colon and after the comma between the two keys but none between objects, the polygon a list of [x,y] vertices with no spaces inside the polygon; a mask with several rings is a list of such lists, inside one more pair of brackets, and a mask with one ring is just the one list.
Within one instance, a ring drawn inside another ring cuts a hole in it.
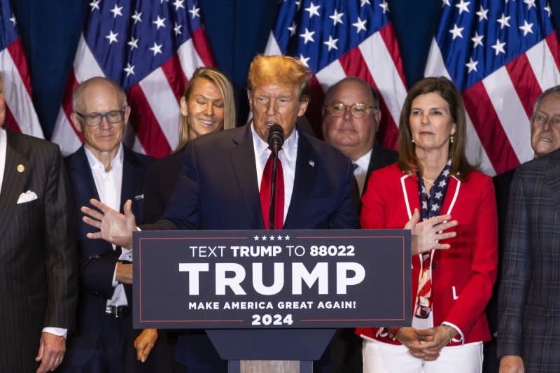
[{"label": "golden swept-back hair of the man speaking at the microphone", "polygon": [[311,78],[309,69],[299,59],[288,56],[256,55],[249,66],[247,89],[267,84],[297,85],[300,99],[307,95],[307,84]]}]

